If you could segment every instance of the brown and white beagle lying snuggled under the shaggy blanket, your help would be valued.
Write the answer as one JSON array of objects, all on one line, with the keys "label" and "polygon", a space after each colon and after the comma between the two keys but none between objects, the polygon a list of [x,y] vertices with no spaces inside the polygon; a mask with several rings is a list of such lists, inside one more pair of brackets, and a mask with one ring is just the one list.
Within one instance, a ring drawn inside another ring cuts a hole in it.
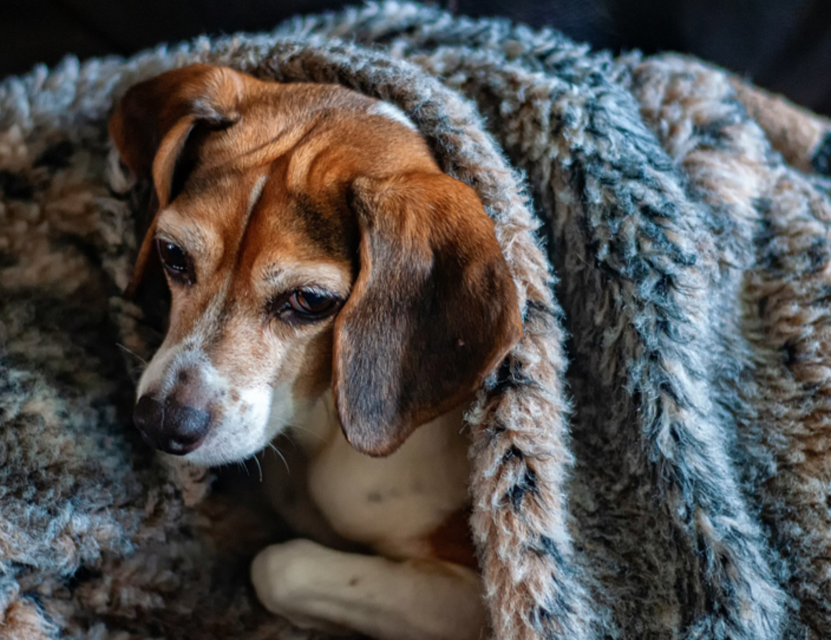
[{"label": "brown and white beagle lying snuggled under the shaggy blanket", "polygon": [[260,601],[328,633],[479,638],[462,414],[522,321],[474,191],[392,105],[224,67],[135,85],[110,133],[158,203],[129,290],[157,256],[172,297],[135,426],[199,465],[284,430],[302,449],[267,484],[312,540],[257,555]]}]

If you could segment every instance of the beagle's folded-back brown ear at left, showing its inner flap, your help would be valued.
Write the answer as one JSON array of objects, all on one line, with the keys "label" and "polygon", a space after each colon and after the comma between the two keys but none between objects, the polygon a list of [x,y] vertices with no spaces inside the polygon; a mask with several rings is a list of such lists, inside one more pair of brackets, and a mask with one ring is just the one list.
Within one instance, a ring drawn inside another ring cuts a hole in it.
[{"label": "beagle's folded-back brown ear at left, showing its inner flap", "polygon": [[[138,178],[153,178],[159,209],[175,198],[177,163],[199,124],[224,128],[239,120],[243,76],[226,67],[191,65],[127,90],[110,120],[110,136]],[[135,291],[153,244],[155,219],[145,234],[127,295]]]}]

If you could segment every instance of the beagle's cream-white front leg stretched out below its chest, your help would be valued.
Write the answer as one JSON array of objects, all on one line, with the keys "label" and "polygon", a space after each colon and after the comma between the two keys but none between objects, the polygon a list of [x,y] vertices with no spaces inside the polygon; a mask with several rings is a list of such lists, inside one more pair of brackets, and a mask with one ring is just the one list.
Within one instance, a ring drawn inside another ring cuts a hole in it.
[{"label": "beagle's cream-white front leg stretched out below its chest", "polygon": [[263,550],[251,578],[263,605],[302,628],[378,640],[478,640],[479,574],[440,560],[396,562],[293,540]]}]

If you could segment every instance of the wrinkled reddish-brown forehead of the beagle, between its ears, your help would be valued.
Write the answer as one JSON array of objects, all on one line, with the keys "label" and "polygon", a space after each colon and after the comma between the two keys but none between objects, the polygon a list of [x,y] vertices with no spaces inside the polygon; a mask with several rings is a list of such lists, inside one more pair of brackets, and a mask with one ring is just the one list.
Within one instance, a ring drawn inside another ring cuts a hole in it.
[{"label": "wrinkled reddish-brown forehead of the beagle, between its ears", "polygon": [[357,238],[349,184],[433,160],[385,103],[330,85],[288,87],[255,95],[237,124],[204,138],[177,208],[225,243],[240,238],[247,255],[347,260]]}]

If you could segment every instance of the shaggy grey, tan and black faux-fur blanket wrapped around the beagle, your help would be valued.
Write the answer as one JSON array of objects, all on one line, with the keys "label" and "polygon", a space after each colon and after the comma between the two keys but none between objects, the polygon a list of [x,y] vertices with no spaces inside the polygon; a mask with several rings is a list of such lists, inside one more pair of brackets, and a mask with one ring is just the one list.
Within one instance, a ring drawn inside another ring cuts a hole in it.
[{"label": "shaggy grey, tan and black faux-fur blanket wrapped around the beagle", "polygon": [[248,586],[290,532],[130,424],[165,301],[120,293],[148,188],[106,121],[194,61],[390,100],[494,218],[525,326],[468,415],[494,638],[831,638],[828,123],[396,2],[0,83],[0,637],[306,637]]}]

